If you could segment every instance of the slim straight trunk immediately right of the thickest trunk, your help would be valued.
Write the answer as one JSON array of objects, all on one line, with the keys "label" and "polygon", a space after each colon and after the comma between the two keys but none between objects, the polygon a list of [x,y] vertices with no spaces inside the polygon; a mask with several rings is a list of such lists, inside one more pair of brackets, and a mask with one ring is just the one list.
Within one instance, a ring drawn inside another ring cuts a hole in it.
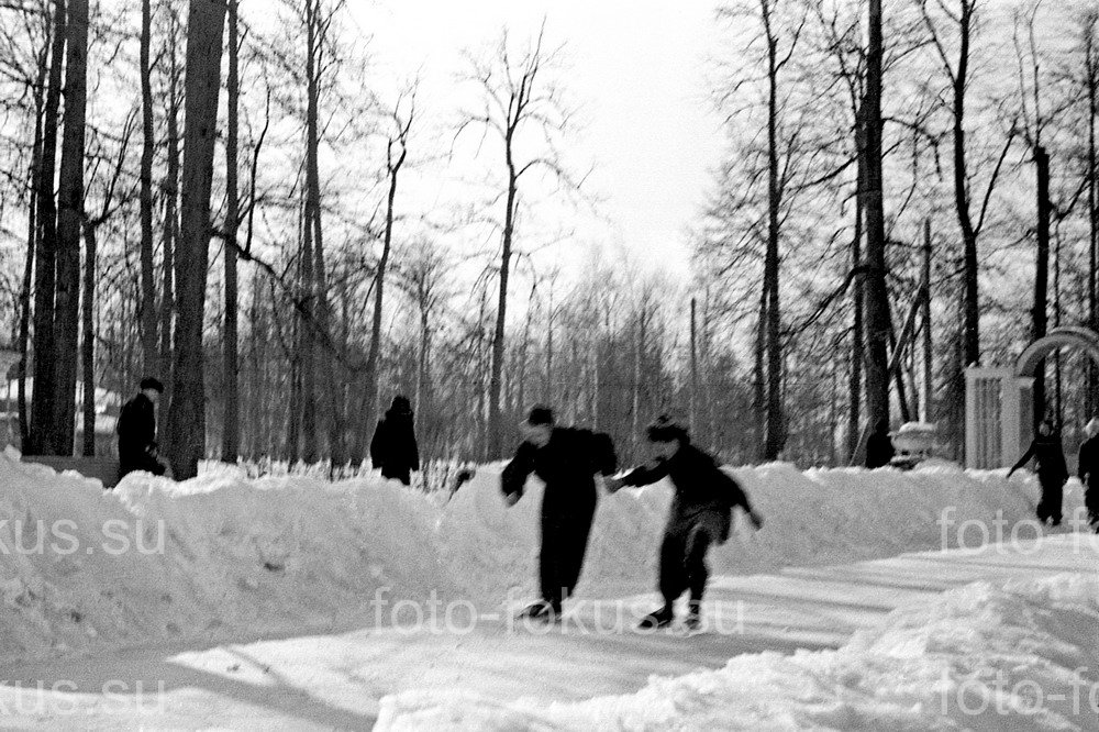
[{"label": "slim straight trunk immediately right of the thickest trunk", "polygon": [[[144,0],[148,2],[148,0]],[[237,375],[237,284],[236,233],[240,226],[240,198],[237,192],[237,137],[240,123],[237,109],[241,85],[237,59],[241,36],[237,30],[238,0],[229,0],[229,130],[225,142],[225,343],[222,362],[222,389],[224,389],[225,417],[222,420],[221,459],[236,463],[241,452],[241,403]]]}]

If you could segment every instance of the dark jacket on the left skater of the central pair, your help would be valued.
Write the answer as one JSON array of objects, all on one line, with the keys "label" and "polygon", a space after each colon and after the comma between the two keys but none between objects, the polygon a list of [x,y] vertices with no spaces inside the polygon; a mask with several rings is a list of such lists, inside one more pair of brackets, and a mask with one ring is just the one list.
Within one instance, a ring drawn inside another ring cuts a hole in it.
[{"label": "dark jacket on the left skater of the central pair", "polygon": [[545,447],[524,442],[503,469],[501,488],[507,496],[523,495],[523,485],[535,474],[546,485],[542,512],[570,512],[573,507],[595,507],[597,473],[610,475],[618,467],[614,443],[602,433],[578,428],[554,428]]}]

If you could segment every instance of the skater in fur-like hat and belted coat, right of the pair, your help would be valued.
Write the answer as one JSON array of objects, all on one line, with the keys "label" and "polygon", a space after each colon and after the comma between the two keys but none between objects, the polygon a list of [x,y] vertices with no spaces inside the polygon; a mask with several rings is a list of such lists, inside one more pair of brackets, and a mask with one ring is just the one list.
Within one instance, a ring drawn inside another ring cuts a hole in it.
[{"label": "skater in fur-like hat and belted coat, right of the pair", "polygon": [[756,529],[763,526],[763,518],[713,456],[690,443],[685,428],[662,417],[648,426],[646,436],[655,459],[608,481],[612,492],[622,486],[647,486],[663,478],[668,478],[676,489],[660,543],[659,590],[664,606],[645,615],[641,626],[668,625],[675,615],[674,602],[689,590],[687,624],[697,628],[709,577],[706,555],[710,546],[729,539],[734,507],[741,507]]}]

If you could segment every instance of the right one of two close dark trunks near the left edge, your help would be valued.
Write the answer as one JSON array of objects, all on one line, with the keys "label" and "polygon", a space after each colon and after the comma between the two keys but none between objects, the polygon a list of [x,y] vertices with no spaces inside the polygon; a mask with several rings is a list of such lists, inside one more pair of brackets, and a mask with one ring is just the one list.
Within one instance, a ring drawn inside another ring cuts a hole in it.
[{"label": "right one of two close dark trunks near the left edge", "polygon": [[87,110],[88,0],[69,0],[65,133],[57,190],[57,299],[54,303],[54,455],[71,455],[80,332],[80,229]]}]

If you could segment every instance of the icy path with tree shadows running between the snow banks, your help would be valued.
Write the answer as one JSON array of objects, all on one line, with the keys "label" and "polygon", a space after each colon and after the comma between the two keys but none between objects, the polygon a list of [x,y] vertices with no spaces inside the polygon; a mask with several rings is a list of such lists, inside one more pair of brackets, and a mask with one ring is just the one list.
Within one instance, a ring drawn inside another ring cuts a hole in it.
[{"label": "icy path with tree shadows running between the snow banks", "polygon": [[376,626],[27,663],[0,673],[0,728],[368,729],[382,697],[407,690],[468,689],[500,702],[632,694],[651,675],[719,668],[737,654],[837,647],[893,608],[972,581],[1095,576],[1097,567],[1095,537],[1067,534],[979,553],[715,578],[707,611],[735,630],[728,634],[586,632],[619,607],[632,620],[652,605],[653,596],[637,596],[581,603],[544,635],[482,617],[465,633]]}]

